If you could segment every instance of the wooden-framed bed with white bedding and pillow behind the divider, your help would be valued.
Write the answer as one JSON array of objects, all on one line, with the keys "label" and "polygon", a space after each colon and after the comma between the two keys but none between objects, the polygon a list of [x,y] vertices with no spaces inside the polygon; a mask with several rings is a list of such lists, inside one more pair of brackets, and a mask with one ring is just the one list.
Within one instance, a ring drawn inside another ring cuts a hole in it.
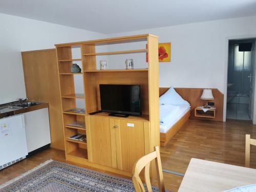
[{"label": "wooden-framed bed with white bedding and pillow behind the divider", "polygon": [[165,146],[181,129],[190,116],[190,104],[174,88],[159,98],[160,145]]}]

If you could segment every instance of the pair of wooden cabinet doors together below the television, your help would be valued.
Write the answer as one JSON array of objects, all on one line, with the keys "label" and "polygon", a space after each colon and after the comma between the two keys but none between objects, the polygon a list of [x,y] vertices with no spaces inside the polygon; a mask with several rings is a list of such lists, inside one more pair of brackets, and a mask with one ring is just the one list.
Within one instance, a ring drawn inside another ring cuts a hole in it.
[{"label": "pair of wooden cabinet doors together below the television", "polygon": [[96,115],[87,119],[89,160],[132,172],[134,163],[145,155],[144,122]]}]

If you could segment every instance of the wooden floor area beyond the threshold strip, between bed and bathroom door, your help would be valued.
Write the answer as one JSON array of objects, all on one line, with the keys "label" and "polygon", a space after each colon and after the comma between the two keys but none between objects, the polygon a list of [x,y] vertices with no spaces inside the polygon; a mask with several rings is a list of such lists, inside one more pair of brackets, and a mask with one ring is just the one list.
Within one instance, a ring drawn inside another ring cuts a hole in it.
[{"label": "wooden floor area beyond the threshold strip, between bed and bathroom door", "polygon": [[[245,134],[256,138],[256,125],[238,120],[225,123],[189,120],[165,147],[161,147],[162,166],[185,173],[191,158],[244,166]],[[251,146],[251,167],[256,168],[255,146]]]}]

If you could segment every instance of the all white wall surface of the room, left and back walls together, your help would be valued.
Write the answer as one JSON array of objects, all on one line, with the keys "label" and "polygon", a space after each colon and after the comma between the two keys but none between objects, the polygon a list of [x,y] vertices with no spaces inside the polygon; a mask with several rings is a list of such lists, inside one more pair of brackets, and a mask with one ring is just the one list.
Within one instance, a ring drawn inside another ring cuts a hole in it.
[{"label": "all white wall surface of the room, left and back walls together", "polygon": [[[5,14],[0,14],[0,23],[0,103],[26,97],[20,51],[49,49],[62,42],[106,37],[100,33]],[[228,39],[256,37],[256,16],[108,36],[143,33],[158,35],[159,42],[172,42],[172,62],[161,62],[159,66],[160,86],[218,88],[224,93],[225,119]],[[132,46],[125,45],[122,49],[130,48]],[[140,48],[143,49],[144,44],[138,44],[135,49]],[[109,47],[109,50],[113,49],[115,46]],[[118,55],[117,58],[116,61],[111,56],[100,59],[109,59],[109,68],[125,68],[125,58],[134,58],[135,68],[146,67],[144,54]],[[81,89],[79,83],[76,89]]]}]

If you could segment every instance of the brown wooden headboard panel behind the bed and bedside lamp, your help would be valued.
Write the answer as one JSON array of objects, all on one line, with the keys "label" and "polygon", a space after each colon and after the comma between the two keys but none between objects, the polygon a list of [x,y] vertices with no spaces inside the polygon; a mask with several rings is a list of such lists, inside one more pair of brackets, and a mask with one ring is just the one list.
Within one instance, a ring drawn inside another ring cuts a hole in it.
[{"label": "brown wooden headboard panel behind the bed and bedside lamp", "polygon": [[[159,95],[164,94],[169,88],[159,88]],[[197,106],[205,105],[207,101],[200,99],[204,88],[174,88],[175,91],[191,105],[191,119],[205,119],[213,121],[223,121],[223,98],[224,95],[218,89],[212,89],[214,100],[210,102],[215,103],[216,117],[214,119],[195,117],[195,108]]]}]

